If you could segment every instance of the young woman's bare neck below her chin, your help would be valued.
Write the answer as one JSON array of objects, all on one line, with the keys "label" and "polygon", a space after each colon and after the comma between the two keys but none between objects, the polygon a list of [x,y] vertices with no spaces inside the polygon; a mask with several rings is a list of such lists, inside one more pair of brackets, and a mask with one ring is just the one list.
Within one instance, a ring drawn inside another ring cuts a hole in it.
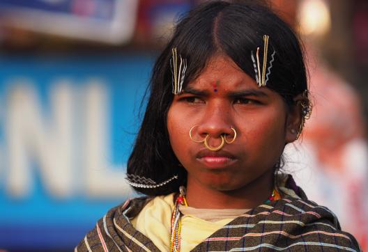
[{"label": "young woman's bare neck below her chin", "polygon": [[273,171],[234,190],[219,190],[188,175],[186,199],[190,207],[202,209],[250,209],[261,205],[273,191]]}]

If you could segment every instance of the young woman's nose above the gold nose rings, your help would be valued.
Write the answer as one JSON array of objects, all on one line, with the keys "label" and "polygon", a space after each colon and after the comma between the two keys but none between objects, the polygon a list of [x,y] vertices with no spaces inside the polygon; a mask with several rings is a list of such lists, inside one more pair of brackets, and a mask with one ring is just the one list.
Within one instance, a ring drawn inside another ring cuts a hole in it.
[{"label": "young woman's nose above the gold nose rings", "polygon": [[231,127],[233,120],[229,109],[224,106],[210,107],[198,125],[197,134],[202,138],[210,135],[210,139],[220,139],[221,136],[233,135]]}]

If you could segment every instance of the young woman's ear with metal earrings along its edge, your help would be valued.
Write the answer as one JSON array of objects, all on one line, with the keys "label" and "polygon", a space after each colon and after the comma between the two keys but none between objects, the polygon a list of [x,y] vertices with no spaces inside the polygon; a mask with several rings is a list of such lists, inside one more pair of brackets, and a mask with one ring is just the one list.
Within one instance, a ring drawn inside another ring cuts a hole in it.
[{"label": "young woman's ear with metal earrings along its edge", "polygon": [[289,110],[286,119],[286,135],[285,142],[292,143],[296,141],[300,134],[300,125],[302,124],[302,106],[300,103],[306,100],[303,95],[297,95],[293,101],[293,107]]}]

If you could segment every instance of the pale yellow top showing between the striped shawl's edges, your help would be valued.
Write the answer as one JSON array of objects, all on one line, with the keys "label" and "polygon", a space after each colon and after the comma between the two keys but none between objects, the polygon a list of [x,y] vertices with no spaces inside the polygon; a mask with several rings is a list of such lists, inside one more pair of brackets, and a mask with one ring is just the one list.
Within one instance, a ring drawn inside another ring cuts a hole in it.
[{"label": "pale yellow top showing between the striped shawl's edges", "polygon": [[[169,194],[167,196],[157,196],[147,203],[141,212],[139,212],[138,216],[132,219],[132,226],[134,226],[142,234],[146,235],[146,237],[151,239],[153,244],[155,244],[160,251],[169,251],[171,214],[173,210],[174,194]],[[192,208],[192,210],[194,209]],[[192,210],[189,209],[186,211],[189,214],[184,213],[181,219],[181,251],[191,251],[204,239],[215,233],[215,231],[222,228],[222,226],[225,224],[235,219],[236,215],[241,214],[240,212],[244,213],[247,211],[236,210],[237,213],[235,216],[232,216],[234,215],[232,210],[232,214],[220,214],[225,216],[224,219],[218,220],[219,218],[213,218],[213,216],[210,216],[208,219],[213,221],[208,221],[190,214],[193,212]],[[209,211],[216,212],[216,210]],[[224,212],[223,210],[220,211]],[[227,218],[227,216],[231,217]]]}]

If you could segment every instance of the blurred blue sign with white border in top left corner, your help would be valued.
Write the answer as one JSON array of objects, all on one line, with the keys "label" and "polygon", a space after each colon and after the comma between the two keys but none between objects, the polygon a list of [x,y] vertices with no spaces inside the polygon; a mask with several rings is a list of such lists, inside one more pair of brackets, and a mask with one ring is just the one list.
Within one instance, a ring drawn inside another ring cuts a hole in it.
[{"label": "blurred blue sign with white border in top left corner", "polygon": [[128,42],[137,0],[0,0],[1,23],[31,31],[111,43]]}]

